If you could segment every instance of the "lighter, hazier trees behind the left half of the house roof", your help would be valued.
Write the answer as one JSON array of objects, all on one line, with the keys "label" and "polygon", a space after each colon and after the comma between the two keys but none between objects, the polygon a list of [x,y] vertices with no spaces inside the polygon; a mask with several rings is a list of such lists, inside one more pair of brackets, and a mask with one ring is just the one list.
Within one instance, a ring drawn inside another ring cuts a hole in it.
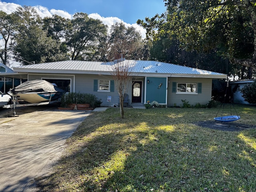
[{"label": "lighter, hazier trees behind the left half of the house roof", "polygon": [[112,52],[122,52],[127,59],[149,58],[147,41],[134,27],[115,23],[108,29],[82,12],[66,19],[58,15],[41,18],[31,6],[18,7],[11,14],[0,11],[0,39],[0,62],[6,65],[13,60],[24,65],[109,61]]}]

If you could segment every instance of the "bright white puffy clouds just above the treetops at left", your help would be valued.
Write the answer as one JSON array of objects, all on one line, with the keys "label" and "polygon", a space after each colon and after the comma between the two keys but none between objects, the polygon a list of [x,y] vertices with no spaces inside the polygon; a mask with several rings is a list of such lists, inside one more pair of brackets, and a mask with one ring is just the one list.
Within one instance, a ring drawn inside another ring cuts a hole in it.
[{"label": "bright white puffy clouds just above the treetops at left", "polygon": [[[15,4],[15,3],[6,3],[6,2],[2,2],[0,0],[0,10],[6,12],[8,14],[16,11],[16,8],[18,6],[20,6],[20,5]],[[62,16],[64,18],[68,18],[68,19],[72,18],[72,15],[69,14],[68,12],[64,11],[64,10],[51,9],[49,11],[48,8],[43,7],[43,6],[35,6],[34,8],[37,10],[38,14],[42,18],[44,18],[46,16],[50,17],[50,16],[52,16],[54,14]],[[128,23],[125,23],[120,18],[117,18],[117,17],[102,17],[98,13],[89,14],[89,17],[101,20],[104,24],[106,24],[108,26],[109,29],[110,29],[111,25],[113,25],[114,23],[116,23],[116,22],[123,22],[125,24],[125,26],[133,26],[134,28],[136,28],[140,32],[140,34],[142,35],[142,38],[146,37],[146,30],[144,28],[138,26],[136,23],[128,24]]]}]

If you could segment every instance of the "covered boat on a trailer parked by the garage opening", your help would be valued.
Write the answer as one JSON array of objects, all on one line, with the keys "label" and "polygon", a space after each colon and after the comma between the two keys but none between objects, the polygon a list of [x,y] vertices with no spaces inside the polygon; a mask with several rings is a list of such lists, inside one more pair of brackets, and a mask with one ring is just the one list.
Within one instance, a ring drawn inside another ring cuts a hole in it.
[{"label": "covered boat on a trailer parked by the garage opening", "polygon": [[46,80],[26,81],[11,89],[8,94],[28,103],[41,103],[60,100],[66,91]]}]

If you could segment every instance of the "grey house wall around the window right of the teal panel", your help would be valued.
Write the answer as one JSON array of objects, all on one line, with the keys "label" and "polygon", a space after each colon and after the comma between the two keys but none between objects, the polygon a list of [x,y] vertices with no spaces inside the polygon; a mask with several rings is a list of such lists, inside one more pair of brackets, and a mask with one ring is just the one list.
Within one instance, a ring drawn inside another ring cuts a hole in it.
[{"label": "grey house wall around the window right of the teal panel", "polygon": [[[177,94],[176,88],[173,90],[173,84],[176,83],[196,83],[197,84],[197,94]],[[201,93],[198,93],[198,84],[202,84]],[[176,106],[183,106],[182,100],[186,100],[188,104],[195,105],[196,103],[207,104],[212,97],[212,79],[207,78],[168,78],[168,99],[167,106],[171,107],[176,104]]]}]

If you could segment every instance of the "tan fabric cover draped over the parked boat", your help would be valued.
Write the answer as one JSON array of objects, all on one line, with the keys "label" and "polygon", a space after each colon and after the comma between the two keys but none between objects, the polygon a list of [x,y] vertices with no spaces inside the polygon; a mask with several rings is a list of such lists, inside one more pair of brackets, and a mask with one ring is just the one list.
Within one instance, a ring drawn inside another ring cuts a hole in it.
[{"label": "tan fabric cover draped over the parked boat", "polygon": [[27,92],[66,92],[46,80],[26,81],[10,90],[13,94]]}]

